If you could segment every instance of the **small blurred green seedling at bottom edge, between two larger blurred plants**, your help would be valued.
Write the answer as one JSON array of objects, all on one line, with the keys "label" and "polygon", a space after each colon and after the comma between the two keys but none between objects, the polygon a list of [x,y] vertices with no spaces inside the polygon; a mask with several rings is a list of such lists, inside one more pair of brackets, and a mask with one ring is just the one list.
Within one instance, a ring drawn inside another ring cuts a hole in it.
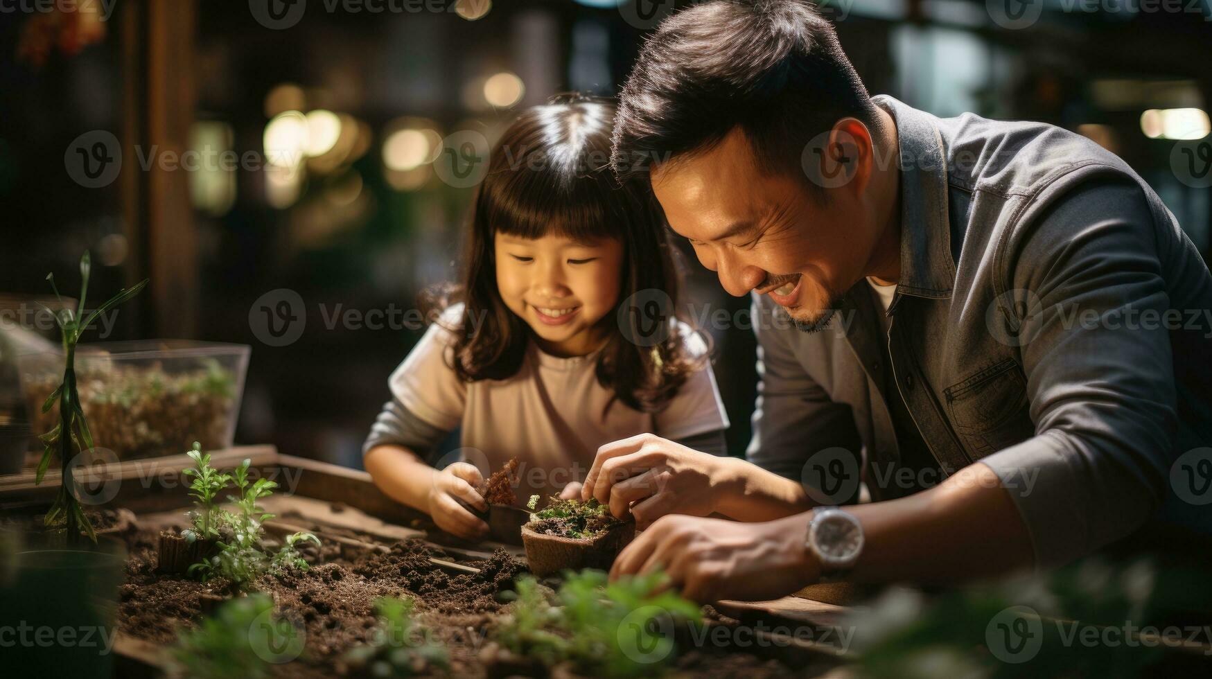
[{"label": "small blurred green seedling at bottom edge, between two larger blurred plants", "polygon": [[375,600],[379,624],[371,641],[344,656],[354,674],[413,677],[434,668],[450,668],[446,649],[431,638],[429,629],[412,620],[412,599]]}]

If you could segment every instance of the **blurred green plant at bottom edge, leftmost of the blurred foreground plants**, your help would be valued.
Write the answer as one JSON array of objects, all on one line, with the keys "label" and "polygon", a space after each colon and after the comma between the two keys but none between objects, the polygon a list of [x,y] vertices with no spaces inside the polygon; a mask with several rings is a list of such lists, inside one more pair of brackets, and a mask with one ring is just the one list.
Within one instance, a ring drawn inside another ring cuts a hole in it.
[{"label": "blurred green plant at bottom edge, leftmost of the blurred foreground plants", "polygon": [[195,679],[269,677],[271,662],[293,660],[303,645],[299,630],[273,610],[264,594],[224,601],[198,628],[178,635],[172,647],[177,669]]}]

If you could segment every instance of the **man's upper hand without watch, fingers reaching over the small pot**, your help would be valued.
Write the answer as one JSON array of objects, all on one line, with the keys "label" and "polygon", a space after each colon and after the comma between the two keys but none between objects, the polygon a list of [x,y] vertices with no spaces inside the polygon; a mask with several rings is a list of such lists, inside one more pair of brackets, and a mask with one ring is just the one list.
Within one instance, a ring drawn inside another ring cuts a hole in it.
[{"label": "man's upper hand without watch, fingers reaching over the small pot", "polygon": [[581,497],[596,497],[621,519],[630,508],[641,529],[665,514],[705,517],[730,480],[726,460],[640,434],[598,449]]}]

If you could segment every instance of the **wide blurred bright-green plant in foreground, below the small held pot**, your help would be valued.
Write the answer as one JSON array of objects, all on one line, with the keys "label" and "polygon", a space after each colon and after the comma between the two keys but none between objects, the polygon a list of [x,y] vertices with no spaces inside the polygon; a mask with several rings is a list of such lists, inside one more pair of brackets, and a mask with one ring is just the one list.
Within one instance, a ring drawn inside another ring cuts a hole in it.
[{"label": "wide blurred bright-green plant in foreground, below the small held pot", "polygon": [[549,594],[533,577],[519,578],[510,615],[493,638],[548,667],[571,662],[593,675],[653,674],[673,658],[671,624],[699,620],[699,607],[681,595],[653,594],[663,580],[656,572],[607,582],[602,571],[565,571],[559,592]]}]

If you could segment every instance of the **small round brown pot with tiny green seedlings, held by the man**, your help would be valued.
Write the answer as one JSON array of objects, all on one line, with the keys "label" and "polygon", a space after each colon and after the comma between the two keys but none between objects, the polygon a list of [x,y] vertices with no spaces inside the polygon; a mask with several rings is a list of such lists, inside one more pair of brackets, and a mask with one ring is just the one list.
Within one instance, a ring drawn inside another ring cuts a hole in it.
[{"label": "small round brown pot with tiny green seedlings, held by the man", "polygon": [[[527,507],[538,503],[531,496]],[[530,515],[521,527],[531,572],[547,577],[562,569],[610,569],[635,537],[635,523],[611,515],[596,500],[559,500]]]}]

